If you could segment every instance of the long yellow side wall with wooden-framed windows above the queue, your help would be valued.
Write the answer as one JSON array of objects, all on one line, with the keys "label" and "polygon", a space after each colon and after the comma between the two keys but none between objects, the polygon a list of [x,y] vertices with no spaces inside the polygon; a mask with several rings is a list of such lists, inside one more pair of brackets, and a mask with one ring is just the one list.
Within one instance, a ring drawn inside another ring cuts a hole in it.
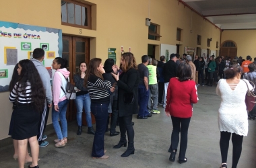
[{"label": "long yellow side wall with wooden-framed windows above the queue", "polygon": [[[82,1],[82,0],[81,0]],[[7,1],[8,6],[0,5],[0,20],[34,26],[58,28],[63,34],[84,36],[91,38],[91,58],[107,58],[108,48],[117,48],[117,64],[119,65],[121,46],[127,52],[135,54],[137,63],[141,62],[141,56],[147,54],[148,44],[156,47],[156,58],[159,58],[160,44],[182,44],[180,54],[184,47],[201,47],[216,50],[216,41],[220,42],[220,30],[215,28],[202,17],[184,7],[177,0],[151,0],[150,16],[148,0],[88,0],[92,5],[92,30],[61,25],[61,2],[58,0],[32,1]],[[11,6],[11,7],[10,7]],[[24,10],[26,9],[26,10]],[[26,12],[25,12],[26,11]],[[191,28],[192,15],[192,30]],[[148,26],[146,18],[160,25],[159,41],[148,40]],[[176,40],[177,28],[181,28],[182,40]],[[201,35],[201,45],[197,46],[197,34]],[[207,38],[212,38],[211,46],[207,47]],[[1,55],[0,55],[0,59]],[[8,93],[0,93],[0,140],[7,137],[9,119],[11,116],[11,103],[8,101]],[[51,116],[50,116],[51,118]],[[51,122],[51,120],[49,120]]]}]

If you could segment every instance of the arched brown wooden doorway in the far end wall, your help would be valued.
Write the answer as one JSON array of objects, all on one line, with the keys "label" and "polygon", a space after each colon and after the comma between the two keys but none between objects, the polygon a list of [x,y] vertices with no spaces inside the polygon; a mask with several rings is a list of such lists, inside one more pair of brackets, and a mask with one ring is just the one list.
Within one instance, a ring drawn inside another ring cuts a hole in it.
[{"label": "arched brown wooden doorway in the far end wall", "polygon": [[234,58],[237,56],[237,45],[236,42],[232,40],[226,40],[222,42],[220,47],[220,55],[221,56],[229,56],[230,58]]}]

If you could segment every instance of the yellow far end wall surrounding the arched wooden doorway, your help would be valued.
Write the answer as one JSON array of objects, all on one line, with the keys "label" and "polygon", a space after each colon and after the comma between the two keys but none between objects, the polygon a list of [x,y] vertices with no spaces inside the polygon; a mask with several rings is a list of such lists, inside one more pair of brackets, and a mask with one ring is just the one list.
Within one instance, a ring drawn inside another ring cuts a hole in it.
[{"label": "yellow far end wall surrounding the arched wooden doorway", "polygon": [[232,40],[237,45],[237,56],[246,59],[249,55],[256,57],[256,30],[224,30],[222,32],[222,43]]}]

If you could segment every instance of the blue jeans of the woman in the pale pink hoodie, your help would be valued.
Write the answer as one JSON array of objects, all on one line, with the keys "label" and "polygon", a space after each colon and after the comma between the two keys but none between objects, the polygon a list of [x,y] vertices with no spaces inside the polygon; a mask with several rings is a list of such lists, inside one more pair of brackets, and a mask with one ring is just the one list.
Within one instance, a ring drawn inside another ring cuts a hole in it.
[{"label": "blue jeans of the woman in the pale pink hoodie", "polygon": [[[58,139],[61,140],[63,138],[67,138],[67,104],[69,103],[68,99],[63,101],[59,101],[59,112],[55,111],[54,107],[52,110],[52,120],[53,120],[53,128],[58,136]],[[61,120],[61,126],[59,125],[59,120]],[[62,129],[61,129],[62,127]]]}]

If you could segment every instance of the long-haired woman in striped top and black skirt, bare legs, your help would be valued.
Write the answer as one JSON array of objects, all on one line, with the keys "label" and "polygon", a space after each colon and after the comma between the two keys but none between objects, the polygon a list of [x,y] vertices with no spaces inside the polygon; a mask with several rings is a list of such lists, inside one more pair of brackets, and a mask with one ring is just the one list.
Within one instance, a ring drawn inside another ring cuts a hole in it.
[{"label": "long-haired woman in striped top and black skirt, bare legs", "polygon": [[20,60],[17,71],[19,79],[9,95],[9,100],[17,105],[13,110],[13,125],[10,126],[11,138],[18,140],[20,168],[24,167],[28,142],[32,153],[32,165],[29,167],[38,167],[38,124],[46,96],[31,60]]}]

